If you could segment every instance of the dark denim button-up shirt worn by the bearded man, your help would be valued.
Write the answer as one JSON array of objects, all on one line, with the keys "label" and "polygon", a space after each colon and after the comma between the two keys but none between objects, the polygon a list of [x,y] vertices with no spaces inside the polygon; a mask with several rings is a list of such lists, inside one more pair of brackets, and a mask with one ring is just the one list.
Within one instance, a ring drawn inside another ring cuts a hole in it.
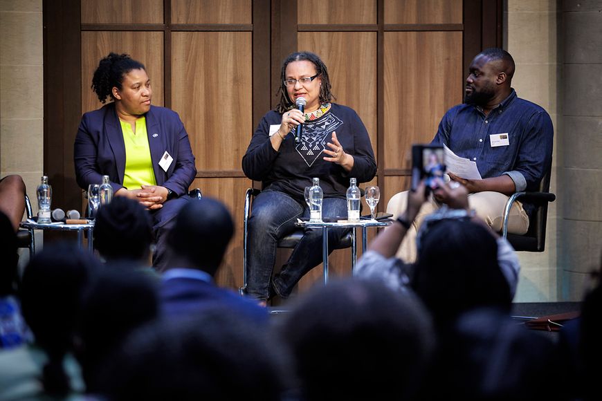
[{"label": "dark denim button-up shirt worn by the bearded man", "polygon": [[[491,147],[490,135],[507,133],[509,144]],[[510,176],[516,191],[537,191],[551,167],[554,128],[548,113],[512,89],[488,115],[459,104],[445,113],[432,144],[446,144],[477,163],[482,178]]]}]

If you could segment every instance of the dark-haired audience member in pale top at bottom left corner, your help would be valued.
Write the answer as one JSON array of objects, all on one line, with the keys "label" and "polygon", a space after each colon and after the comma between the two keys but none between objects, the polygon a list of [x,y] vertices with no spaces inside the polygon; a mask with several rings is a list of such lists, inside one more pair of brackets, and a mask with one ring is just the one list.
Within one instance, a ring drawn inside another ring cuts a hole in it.
[{"label": "dark-haired audience member in pale top at bottom left corner", "polygon": [[98,269],[91,254],[73,245],[46,245],[26,266],[23,315],[35,343],[0,353],[0,399],[64,399],[82,393],[80,368],[71,357],[82,295]]}]

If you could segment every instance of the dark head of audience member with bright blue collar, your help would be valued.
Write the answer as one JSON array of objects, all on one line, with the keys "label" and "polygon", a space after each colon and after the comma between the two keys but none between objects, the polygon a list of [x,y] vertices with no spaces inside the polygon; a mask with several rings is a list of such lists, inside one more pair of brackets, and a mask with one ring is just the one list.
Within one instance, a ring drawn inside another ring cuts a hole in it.
[{"label": "dark head of audience member with bright blue collar", "polygon": [[179,267],[194,267],[215,275],[234,234],[226,206],[203,197],[189,202],[176,217],[168,241],[182,259]]}]

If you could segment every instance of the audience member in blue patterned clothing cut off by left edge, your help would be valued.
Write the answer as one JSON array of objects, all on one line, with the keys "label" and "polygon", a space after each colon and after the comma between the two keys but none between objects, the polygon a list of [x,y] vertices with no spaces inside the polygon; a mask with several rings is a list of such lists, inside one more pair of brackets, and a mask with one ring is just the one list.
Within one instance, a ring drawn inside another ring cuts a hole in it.
[{"label": "audience member in blue patterned clothing cut off by left edge", "polygon": [[6,214],[0,212],[0,350],[30,342],[31,333],[17,298],[17,236]]}]

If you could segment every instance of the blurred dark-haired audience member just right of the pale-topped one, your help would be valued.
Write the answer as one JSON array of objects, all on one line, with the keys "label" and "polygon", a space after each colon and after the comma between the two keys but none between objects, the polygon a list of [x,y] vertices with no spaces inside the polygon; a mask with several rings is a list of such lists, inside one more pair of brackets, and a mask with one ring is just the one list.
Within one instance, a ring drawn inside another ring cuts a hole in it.
[{"label": "blurred dark-haired audience member just right of the pale-topped one", "polygon": [[99,389],[99,366],[136,328],[158,316],[156,281],[142,272],[109,265],[95,277],[82,305],[77,360],[86,392]]}]

